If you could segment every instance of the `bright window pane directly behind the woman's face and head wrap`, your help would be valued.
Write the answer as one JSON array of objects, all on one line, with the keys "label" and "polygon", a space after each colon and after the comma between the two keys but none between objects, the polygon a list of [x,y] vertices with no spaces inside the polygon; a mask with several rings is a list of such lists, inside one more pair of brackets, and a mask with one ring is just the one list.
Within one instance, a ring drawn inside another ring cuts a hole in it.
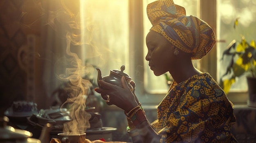
[{"label": "bright window pane directly behind the woman's face and head wrap", "polygon": [[[146,35],[148,34],[149,29],[151,28],[151,23],[148,20],[148,16],[146,14],[146,7],[147,4],[153,2],[155,0],[144,0],[144,40],[146,39]],[[175,4],[178,4],[186,9],[186,15],[198,15],[198,0],[173,0]],[[144,41],[144,57],[146,56],[148,50],[146,47],[146,42]],[[193,61],[194,66],[199,68],[198,60]],[[152,70],[150,70],[148,66],[148,61],[145,60],[144,62],[144,76],[145,76],[145,89],[148,93],[166,93],[169,86],[166,83],[165,75],[161,75],[156,77]],[[168,76],[170,76],[169,73]]]}]

